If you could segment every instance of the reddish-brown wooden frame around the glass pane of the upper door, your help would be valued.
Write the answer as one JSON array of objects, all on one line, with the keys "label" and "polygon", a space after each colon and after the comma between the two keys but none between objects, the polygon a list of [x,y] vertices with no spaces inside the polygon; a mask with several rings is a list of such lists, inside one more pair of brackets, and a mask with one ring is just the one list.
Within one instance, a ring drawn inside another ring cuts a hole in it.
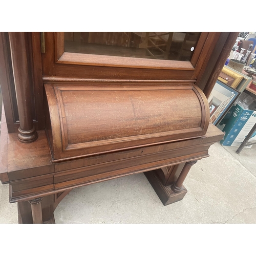
[{"label": "reddish-brown wooden frame around the glass pane of the upper door", "polygon": [[67,53],[64,52],[64,32],[45,32],[43,74],[46,77],[73,76],[84,80],[142,79],[195,82],[201,70],[207,65],[220,35],[221,32],[202,32],[191,61],[175,61]]}]

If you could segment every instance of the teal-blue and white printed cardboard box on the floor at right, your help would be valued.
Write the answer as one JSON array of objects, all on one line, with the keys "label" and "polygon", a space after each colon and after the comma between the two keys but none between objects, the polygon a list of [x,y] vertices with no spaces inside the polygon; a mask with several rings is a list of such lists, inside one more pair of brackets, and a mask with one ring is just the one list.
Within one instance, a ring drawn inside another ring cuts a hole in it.
[{"label": "teal-blue and white printed cardboard box on the floor at right", "polygon": [[[239,147],[256,123],[256,111],[244,110],[239,104],[233,110],[232,115],[223,129],[224,138],[220,141],[223,146]],[[249,142],[256,141],[256,132],[253,133]],[[252,145],[247,146],[250,148]]]}]

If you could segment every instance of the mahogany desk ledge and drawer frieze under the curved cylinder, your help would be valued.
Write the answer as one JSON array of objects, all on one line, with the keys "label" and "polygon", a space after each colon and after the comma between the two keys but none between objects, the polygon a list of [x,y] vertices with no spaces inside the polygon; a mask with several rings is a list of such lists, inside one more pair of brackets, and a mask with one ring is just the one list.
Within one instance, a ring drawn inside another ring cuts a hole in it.
[{"label": "mahogany desk ledge and drawer frieze under the curved cylinder", "polygon": [[209,146],[223,137],[223,133],[210,124],[206,136],[201,138],[53,163],[44,132],[39,133],[37,144],[20,143],[15,133],[11,135],[6,145],[6,167],[1,169],[0,176],[2,181],[10,183],[11,202],[198,160],[207,157]]}]

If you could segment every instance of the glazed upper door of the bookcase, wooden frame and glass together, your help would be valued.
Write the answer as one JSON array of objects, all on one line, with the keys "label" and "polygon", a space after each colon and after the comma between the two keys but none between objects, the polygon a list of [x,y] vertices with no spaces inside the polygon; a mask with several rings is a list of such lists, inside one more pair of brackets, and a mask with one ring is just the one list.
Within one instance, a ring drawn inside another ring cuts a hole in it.
[{"label": "glazed upper door of the bookcase, wooden frame and glass together", "polygon": [[[220,32],[45,32],[48,79],[181,80],[202,76]],[[50,79],[50,78],[49,78]]]}]

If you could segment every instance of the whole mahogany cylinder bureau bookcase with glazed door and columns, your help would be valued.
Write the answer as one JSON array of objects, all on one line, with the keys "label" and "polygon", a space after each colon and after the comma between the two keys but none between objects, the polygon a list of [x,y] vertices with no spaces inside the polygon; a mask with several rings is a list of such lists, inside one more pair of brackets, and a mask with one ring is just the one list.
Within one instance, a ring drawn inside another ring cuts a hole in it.
[{"label": "whole mahogany cylinder bureau bookcase with glazed door and columns", "polygon": [[[223,133],[209,96],[238,32],[1,32],[0,180],[19,223],[144,173],[164,205]],[[125,188],[123,188],[125,189]]]}]

